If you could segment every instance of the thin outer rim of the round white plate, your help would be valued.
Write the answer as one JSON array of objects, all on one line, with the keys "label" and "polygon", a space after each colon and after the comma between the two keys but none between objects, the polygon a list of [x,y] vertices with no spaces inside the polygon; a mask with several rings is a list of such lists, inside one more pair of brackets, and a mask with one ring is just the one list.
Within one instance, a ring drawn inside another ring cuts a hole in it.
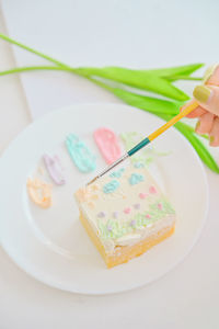
[{"label": "thin outer rim of the round white plate", "polygon": [[[53,117],[54,115],[58,114],[58,113],[61,113],[64,111],[70,111],[72,107],[82,107],[82,106],[122,106],[122,107],[128,107],[128,109],[132,109],[132,110],[138,110],[138,111],[142,111],[138,107],[135,107],[135,106],[130,106],[130,105],[127,105],[127,104],[124,104],[124,103],[103,103],[103,102],[97,102],[97,103],[80,103],[80,104],[71,104],[71,105],[68,105],[68,106],[64,106],[64,107],[59,107],[59,109],[56,109],[47,114],[44,114],[42,115],[41,117],[36,118],[35,121],[31,122],[24,129],[22,129],[16,136],[15,138],[13,138],[9,145],[7,146],[7,148],[2,151],[1,156],[0,156],[0,169],[1,169],[1,163],[4,159],[4,157],[7,157],[7,154],[10,151],[11,148],[13,148],[13,145],[15,143],[18,143],[18,140],[20,139],[20,137],[23,135],[23,134],[27,134],[28,131],[31,131],[35,125],[41,125],[41,122],[44,122],[44,121],[47,121],[49,120],[49,116]],[[149,116],[155,116],[153,115],[152,113],[150,112],[147,112],[146,111],[146,114],[149,115]],[[155,116],[158,118],[158,121],[160,121],[161,123],[164,122],[162,118]],[[162,279],[163,276],[165,276],[170,271],[172,271],[174,268],[176,268],[180,263],[182,263],[185,258],[192,252],[194,246],[197,243],[200,235],[201,235],[201,231],[203,231],[203,228],[206,224],[206,220],[207,220],[207,215],[208,215],[208,212],[209,212],[209,184],[208,184],[208,180],[207,180],[207,173],[206,173],[206,170],[205,170],[205,167],[204,167],[204,163],[201,162],[201,160],[199,159],[198,155],[196,154],[196,151],[194,150],[193,146],[188,143],[188,140],[182,136],[182,134],[180,132],[177,132],[176,129],[174,129],[174,132],[182,138],[182,139],[185,139],[186,144],[187,144],[187,147],[191,148],[193,155],[195,156],[196,160],[197,160],[197,163],[200,168],[200,171],[201,171],[201,177],[203,177],[203,181],[204,181],[204,185],[205,185],[205,214],[203,216],[203,220],[200,222],[200,226],[198,228],[198,230],[196,231],[196,235],[194,236],[193,238],[193,242],[189,245],[189,248],[188,250],[184,253],[183,257],[181,257],[176,262],[172,263],[162,274],[158,274],[157,276],[154,276],[154,279],[151,281],[151,280],[148,280],[146,281],[143,284],[140,283],[140,284],[132,284],[129,288],[127,287],[124,287],[124,288],[116,288],[115,291],[113,291],[112,288],[110,291],[105,290],[105,292],[92,292],[92,290],[90,290],[89,292],[87,291],[83,291],[83,290],[78,290],[76,286],[73,288],[65,288],[64,286],[61,286],[61,284],[59,285],[58,282],[56,283],[50,283],[49,280],[45,280],[44,276],[42,277],[42,275],[37,275],[38,272],[32,272],[30,271],[28,269],[26,269],[25,266],[23,266],[23,263],[21,264],[19,261],[16,261],[16,259],[13,257],[13,254],[11,254],[11,252],[7,249],[7,247],[4,246],[4,243],[2,242],[2,239],[0,237],[0,245],[2,247],[2,249],[4,250],[4,252],[10,257],[10,259],[13,261],[13,263],[20,269],[22,270],[23,272],[25,272],[27,275],[30,275],[31,277],[33,277],[34,280],[36,280],[37,282],[41,282],[51,288],[57,288],[57,290],[60,290],[60,291],[64,291],[64,292],[70,292],[70,293],[74,293],[74,294],[79,294],[79,295],[90,295],[90,296],[96,296],[96,295],[100,295],[100,296],[104,296],[104,295],[112,295],[112,294],[119,294],[119,293],[125,293],[125,292],[130,292],[132,290],[136,290],[136,288],[139,288],[141,286],[146,286],[148,284],[152,284],[154,282],[157,282],[159,279]],[[1,170],[0,170],[1,172]]]}]

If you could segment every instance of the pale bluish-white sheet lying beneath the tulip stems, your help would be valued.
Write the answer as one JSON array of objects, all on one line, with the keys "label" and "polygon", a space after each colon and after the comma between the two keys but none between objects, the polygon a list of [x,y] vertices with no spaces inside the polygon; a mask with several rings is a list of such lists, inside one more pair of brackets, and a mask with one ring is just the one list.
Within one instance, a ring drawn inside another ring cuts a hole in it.
[{"label": "pale bluish-white sheet lying beneath the tulip stems", "polygon": [[[74,67],[218,60],[217,0],[2,0],[2,8],[12,37]],[[14,52],[19,66],[49,65],[18,47]],[[21,79],[34,117],[84,100],[118,102],[69,73],[41,71]]]}]

